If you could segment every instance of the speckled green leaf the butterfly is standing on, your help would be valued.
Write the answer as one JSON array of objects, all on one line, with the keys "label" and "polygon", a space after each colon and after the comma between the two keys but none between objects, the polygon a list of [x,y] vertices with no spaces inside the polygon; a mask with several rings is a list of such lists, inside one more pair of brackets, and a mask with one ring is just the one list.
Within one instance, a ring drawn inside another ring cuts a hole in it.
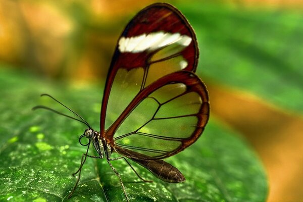
[{"label": "speckled green leaf the butterfly is standing on", "polygon": [[[86,147],[78,138],[80,122],[48,111],[31,111],[35,105],[57,109],[40,98],[51,93],[98,130],[103,88],[62,88],[26,73],[0,69],[0,201],[62,201],[76,181],[71,176]],[[61,112],[67,110],[58,107]],[[95,155],[93,148],[90,154]],[[122,160],[112,162],[121,174],[131,201],[265,201],[265,171],[254,151],[238,134],[212,118],[204,134],[192,146],[167,159],[185,176],[179,184],[165,183],[132,162],[145,179],[140,183]],[[137,182],[137,183],[134,183]],[[118,177],[102,159],[87,159],[79,187],[70,201],[123,201]]]}]

